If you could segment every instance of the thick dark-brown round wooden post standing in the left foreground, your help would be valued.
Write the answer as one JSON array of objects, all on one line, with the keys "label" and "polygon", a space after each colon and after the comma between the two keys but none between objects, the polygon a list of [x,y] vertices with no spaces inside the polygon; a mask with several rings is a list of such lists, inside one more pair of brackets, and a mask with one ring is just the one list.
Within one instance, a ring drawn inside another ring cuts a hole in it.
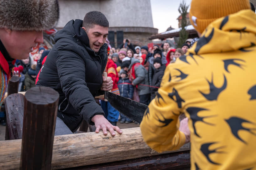
[{"label": "thick dark-brown round wooden post standing in the left foreground", "polygon": [[25,94],[20,169],[50,169],[59,93],[49,87]]}]

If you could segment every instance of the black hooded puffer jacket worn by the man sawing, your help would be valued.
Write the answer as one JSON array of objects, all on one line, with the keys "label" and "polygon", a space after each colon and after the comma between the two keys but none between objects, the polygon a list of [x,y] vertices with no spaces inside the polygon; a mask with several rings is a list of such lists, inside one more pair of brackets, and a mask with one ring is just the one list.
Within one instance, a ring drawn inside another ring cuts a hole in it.
[{"label": "black hooded puffer jacket worn by the man sawing", "polygon": [[102,73],[107,64],[107,44],[98,53],[91,50],[82,20],[69,21],[54,37],[36,86],[48,86],[60,94],[58,117],[74,132],[84,118],[104,115],[95,102],[103,94]]}]

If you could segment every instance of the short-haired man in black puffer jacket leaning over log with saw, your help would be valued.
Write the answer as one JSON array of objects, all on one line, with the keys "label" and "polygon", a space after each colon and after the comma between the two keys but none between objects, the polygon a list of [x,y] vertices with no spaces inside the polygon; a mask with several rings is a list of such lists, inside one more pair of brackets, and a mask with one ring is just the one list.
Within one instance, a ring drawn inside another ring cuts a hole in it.
[{"label": "short-haired man in black puffer jacket leaning over log with saw", "polygon": [[94,97],[112,89],[110,77],[102,78],[107,64],[109,23],[104,14],[86,13],[84,20],[69,21],[54,37],[55,45],[47,56],[37,86],[48,86],[60,94],[55,135],[72,134],[82,119],[112,136],[113,126],[104,117]]}]

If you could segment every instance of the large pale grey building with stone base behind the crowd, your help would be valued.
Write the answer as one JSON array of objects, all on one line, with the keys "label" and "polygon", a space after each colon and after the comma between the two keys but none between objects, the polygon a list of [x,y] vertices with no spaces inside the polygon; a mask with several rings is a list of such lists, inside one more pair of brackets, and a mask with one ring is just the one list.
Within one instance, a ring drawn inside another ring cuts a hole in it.
[{"label": "large pale grey building with stone base behind the crowd", "polygon": [[109,21],[108,39],[117,47],[129,38],[134,45],[147,45],[149,37],[158,33],[153,27],[150,0],[59,0],[60,30],[71,19],[82,19],[89,11],[100,11]]}]

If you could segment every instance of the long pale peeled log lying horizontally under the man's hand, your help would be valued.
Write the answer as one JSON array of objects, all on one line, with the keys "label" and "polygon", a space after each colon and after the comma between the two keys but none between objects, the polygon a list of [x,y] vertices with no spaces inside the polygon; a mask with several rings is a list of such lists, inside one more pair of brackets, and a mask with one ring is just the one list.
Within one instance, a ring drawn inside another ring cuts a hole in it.
[{"label": "long pale peeled log lying horizontally under the man's hand", "polygon": [[[123,134],[117,133],[114,137],[109,132],[105,136],[102,131],[55,136],[51,169],[80,167],[160,154],[147,146],[139,127],[122,129],[122,131]],[[0,169],[18,169],[21,139],[0,141],[0,150]],[[190,145],[186,144],[178,151],[188,150]]]}]

